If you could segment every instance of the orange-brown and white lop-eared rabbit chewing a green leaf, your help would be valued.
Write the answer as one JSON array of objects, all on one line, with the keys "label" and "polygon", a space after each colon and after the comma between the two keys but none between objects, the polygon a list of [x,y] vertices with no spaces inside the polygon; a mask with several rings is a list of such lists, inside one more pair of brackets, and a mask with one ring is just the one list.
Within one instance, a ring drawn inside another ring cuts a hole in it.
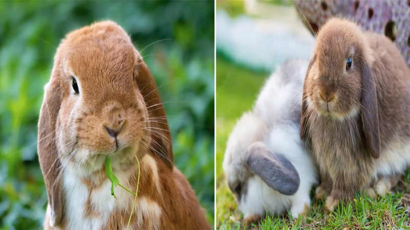
[{"label": "orange-brown and white lop-eared rabbit chewing a green leaf", "polygon": [[38,158],[49,204],[45,229],[124,229],[134,196],[111,196],[106,156],[138,198],[132,229],[209,229],[204,210],[173,165],[165,110],[147,65],[112,21],[61,41],[38,122]]}]

